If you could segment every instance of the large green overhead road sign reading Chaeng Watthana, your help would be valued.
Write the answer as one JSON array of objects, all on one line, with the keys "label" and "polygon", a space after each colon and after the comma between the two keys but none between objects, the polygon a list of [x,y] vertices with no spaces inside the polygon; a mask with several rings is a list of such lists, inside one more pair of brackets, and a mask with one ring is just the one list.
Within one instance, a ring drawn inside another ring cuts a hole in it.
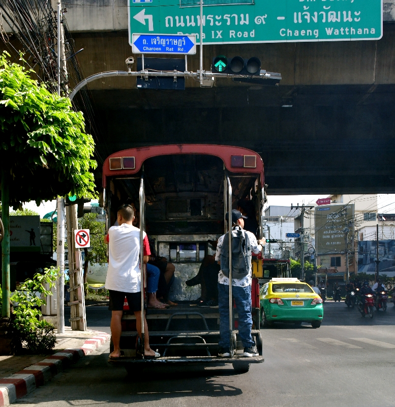
[{"label": "large green overhead road sign reading Chaeng Watthana", "polygon": [[[199,0],[129,0],[132,34],[196,34]],[[357,41],[382,37],[382,0],[203,0],[203,42]]]}]

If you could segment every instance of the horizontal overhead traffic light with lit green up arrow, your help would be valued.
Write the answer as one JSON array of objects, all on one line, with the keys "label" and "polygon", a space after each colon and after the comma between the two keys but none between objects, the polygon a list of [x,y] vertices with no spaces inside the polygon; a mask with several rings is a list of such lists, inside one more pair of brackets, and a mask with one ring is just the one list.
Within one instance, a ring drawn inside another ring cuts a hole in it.
[{"label": "horizontal overhead traffic light with lit green up arrow", "polygon": [[229,59],[224,55],[216,56],[212,59],[212,70],[219,73],[236,75],[259,75],[261,71],[261,61],[256,56],[245,59],[241,56],[234,56]]}]

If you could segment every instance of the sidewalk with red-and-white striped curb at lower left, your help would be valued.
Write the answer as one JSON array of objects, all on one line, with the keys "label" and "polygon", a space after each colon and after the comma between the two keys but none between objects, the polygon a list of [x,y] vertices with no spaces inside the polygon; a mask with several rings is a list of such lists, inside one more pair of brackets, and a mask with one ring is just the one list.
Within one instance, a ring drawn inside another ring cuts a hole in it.
[{"label": "sidewalk with red-and-white striped curb at lower left", "polygon": [[110,337],[101,331],[72,331],[65,327],[64,334],[56,333],[53,353],[0,356],[0,407],[6,407],[44,385],[69,363],[94,352]]}]

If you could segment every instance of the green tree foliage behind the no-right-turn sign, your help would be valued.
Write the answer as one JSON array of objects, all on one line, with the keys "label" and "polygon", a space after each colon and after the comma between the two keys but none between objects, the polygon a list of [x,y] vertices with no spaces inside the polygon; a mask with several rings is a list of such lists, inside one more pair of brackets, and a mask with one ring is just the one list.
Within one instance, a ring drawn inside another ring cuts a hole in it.
[{"label": "green tree foliage behind the no-right-turn sign", "polygon": [[80,229],[89,229],[90,249],[85,251],[85,261],[89,263],[99,263],[103,266],[107,263],[107,245],[104,243],[105,223],[98,222],[96,214],[85,213],[78,219]]}]

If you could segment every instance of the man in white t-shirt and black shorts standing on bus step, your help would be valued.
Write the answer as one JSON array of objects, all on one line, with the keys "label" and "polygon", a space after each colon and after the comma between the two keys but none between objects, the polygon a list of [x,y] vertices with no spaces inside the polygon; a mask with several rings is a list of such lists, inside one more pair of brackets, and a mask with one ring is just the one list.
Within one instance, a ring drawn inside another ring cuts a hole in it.
[{"label": "man in white t-shirt and black shorts standing on bus step", "polygon": [[[118,226],[110,227],[104,239],[109,246],[105,287],[110,293],[109,310],[112,311],[111,337],[114,345],[114,351],[110,355],[112,359],[123,356],[119,341],[125,297],[129,309],[136,315],[137,332],[141,338],[140,229],[133,226],[133,220],[133,208],[130,205],[121,205],[117,213]],[[144,358],[159,356],[159,353],[149,347],[148,328],[144,316]]]}]

